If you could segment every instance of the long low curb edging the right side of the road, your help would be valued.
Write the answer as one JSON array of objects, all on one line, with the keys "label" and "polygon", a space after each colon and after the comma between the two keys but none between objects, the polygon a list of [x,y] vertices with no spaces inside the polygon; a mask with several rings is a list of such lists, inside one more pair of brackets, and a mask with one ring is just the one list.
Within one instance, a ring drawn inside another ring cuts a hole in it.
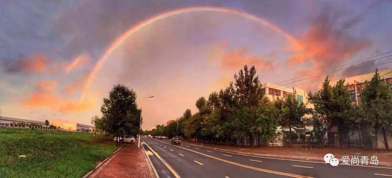
[{"label": "long low curb edging the right side of the road", "polygon": [[[197,147],[213,149],[213,150],[226,151],[226,152],[245,154],[245,155],[247,154],[250,156],[265,156],[265,157],[271,157],[271,158],[285,158],[285,159],[296,159],[296,160],[316,160],[316,161],[320,161],[320,159],[321,159],[321,158],[303,157],[303,156],[287,156],[287,155],[277,155],[277,154],[248,153],[248,152],[232,151],[232,150],[215,148],[215,147],[208,147],[208,146],[203,146],[203,145],[196,145],[193,143],[187,143],[187,144],[192,145],[192,146],[197,146]],[[378,165],[392,167],[392,163],[388,163],[388,162],[379,162]]]}]

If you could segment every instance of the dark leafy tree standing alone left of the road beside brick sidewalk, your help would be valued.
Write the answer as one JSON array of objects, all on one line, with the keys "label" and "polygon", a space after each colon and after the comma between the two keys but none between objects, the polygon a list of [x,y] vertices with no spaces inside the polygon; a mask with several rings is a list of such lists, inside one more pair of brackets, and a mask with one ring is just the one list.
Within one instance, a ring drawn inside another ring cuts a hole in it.
[{"label": "dark leafy tree standing alone left of the road beside brick sidewalk", "polygon": [[120,132],[135,134],[140,131],[141,110],[137,108],[136,93],[125,85],[113,86],[109,98],[103,98],[101,112],[116,137]]}]

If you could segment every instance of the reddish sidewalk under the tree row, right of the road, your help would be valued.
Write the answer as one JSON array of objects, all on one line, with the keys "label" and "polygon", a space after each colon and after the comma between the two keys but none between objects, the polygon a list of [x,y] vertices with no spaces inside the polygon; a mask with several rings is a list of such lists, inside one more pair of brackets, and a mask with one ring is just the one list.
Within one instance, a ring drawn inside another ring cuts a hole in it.
[{"label": "reddish sidewalk under the tree row, right of the road", "polygon": [[[194,142],[189,140],[182,140],[183,143],[190,143],[192,145],[201,146],[201,142]],[[387,152],[383,150],[360,149],[360,148],[345,148],[339,149],[334,147],[312,148],[308,147],[308,151],[301,147],[233,147],[217,143],[203,143],[203,147],[218,149],[221,151],[228,151],[239,154],[249,154],[254,156],[267,156],[275,158],[296,159],[296,160],[314,160],[323,162],[324,155],[327,153],[333,154],[336,158],[341,160],[341,156],[377,156],[379,165],[392,167],[392,151]]]}]

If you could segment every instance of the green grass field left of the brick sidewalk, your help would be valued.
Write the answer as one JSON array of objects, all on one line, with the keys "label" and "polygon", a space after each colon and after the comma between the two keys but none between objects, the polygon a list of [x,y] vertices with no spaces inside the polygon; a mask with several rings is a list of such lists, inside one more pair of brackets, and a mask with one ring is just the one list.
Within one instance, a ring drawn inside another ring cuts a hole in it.
[{"label": "green grass field left of the brick sidewalk", "polygon": [[80,178],[116,149],[91,133],[0,128],[0,178]]}]

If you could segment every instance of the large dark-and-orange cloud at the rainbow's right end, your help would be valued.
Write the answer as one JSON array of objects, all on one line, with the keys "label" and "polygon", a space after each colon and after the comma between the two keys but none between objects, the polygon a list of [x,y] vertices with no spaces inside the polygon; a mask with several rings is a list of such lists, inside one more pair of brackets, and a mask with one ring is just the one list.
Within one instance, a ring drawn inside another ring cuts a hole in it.
[{"label": "large dark-and-orange cloud at the rainbow's right end", "polygon": [[289,49],[292,55],[287,64],[308,64],[318,70],[337,66],[372,42],[363,36],[350,34],[366,13],[350,16],[347,9],[327,7],[311,21],[309,30],[299,39],[300,49]]}]

